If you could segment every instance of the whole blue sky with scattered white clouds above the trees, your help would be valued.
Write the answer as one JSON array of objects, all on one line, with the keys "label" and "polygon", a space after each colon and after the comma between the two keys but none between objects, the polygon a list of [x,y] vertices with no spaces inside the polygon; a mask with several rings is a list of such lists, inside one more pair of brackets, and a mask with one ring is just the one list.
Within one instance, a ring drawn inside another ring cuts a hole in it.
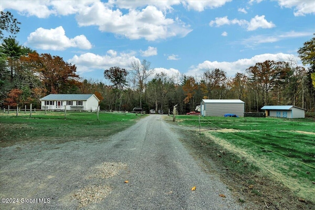
[{"label": "whole blue sky with scattered white clouds above the trees", "polygon": [[60,56],[86,79],[148,60],[155,72],[228,77],[265,60],[302,65],[315,0],[0,0],[22,24],[20,44]]}]

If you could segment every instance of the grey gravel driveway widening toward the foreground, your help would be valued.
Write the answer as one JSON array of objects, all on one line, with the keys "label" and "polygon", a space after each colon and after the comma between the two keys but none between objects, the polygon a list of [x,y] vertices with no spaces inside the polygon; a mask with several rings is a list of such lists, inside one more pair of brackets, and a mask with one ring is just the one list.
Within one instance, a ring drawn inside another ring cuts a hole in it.
[{"label": "grey gravel driveway widening toward the foreground", "polygon": [[1,148],[0,209],[242,209],[163,119],[150,115],[96,141]]}]

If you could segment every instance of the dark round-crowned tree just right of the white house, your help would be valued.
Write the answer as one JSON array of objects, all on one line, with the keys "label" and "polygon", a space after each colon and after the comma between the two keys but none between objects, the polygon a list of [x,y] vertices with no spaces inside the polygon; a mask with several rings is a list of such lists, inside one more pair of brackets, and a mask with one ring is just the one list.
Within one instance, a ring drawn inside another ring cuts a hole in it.
[{"label": "dark round-crowned tree just right of the white house", "polygon": [[[124,68],[120,68],[118,66],[110,67],[109,69],[106,69],[104,71],[104,77],[108,79],[113,86],[113,92],[114,92],[114,108],[117,110],[121,109],[122,106],[122,91],[124,90],[124,87],[127,85],[126,76],[128,75],[128,72]],[[119,98],[119,103],[117,103],[117,99]]]}]

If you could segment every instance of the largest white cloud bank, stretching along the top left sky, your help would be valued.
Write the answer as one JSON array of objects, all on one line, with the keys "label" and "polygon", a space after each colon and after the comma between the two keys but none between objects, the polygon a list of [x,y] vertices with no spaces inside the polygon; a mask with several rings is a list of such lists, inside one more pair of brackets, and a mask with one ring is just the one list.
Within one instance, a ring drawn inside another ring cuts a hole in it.
[{"label": "largest white cloud bank, stretching along the top left sky", "polygon": [[[147,5],[148,2],[150,5]],[[173,1],[114,1],[99,0],[1,0],[1,9],[15,9],[27,16],[47,18],[50,15],[76,14],[79,26],[97,26],[99,30],[115,33],[128,39],[145,38],[149,41],[168,37],[184,37],[190,26],[178,17],[167,18],[165,9],[171,10],[172,5],[180,4]],[[117,3],[117,4],[116,4]],[[190,3],[189,3],[190,4]],[[207,6],[210,3],[203,3]],[[138,10],[138,6],[145,6]],[[157,6],[154,6],[157,5]],[[124,14],[119,6],[129,8]],[[116,9],[113,9],[113,8]],[[162,9],[162,10],[161,10]]]}]

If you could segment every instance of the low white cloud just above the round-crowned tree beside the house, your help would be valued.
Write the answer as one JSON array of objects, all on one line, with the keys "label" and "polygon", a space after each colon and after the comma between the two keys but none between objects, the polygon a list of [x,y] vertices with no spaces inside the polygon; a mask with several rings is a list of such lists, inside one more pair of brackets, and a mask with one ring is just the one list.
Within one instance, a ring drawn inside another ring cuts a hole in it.
[{"label": "low white cloud just above the round-crowned tree beside the house", "polygon": [[75,55],[67,62],[75,64],[79,73],[94,71],[95,69],[109,69],[113,66],[129,69],[131,62],[139,59],[134,57],[133,53],[117,53],[114,50],[107,51],[106,55],[95,55],[94,53],[85,53],[79,56]]}]

